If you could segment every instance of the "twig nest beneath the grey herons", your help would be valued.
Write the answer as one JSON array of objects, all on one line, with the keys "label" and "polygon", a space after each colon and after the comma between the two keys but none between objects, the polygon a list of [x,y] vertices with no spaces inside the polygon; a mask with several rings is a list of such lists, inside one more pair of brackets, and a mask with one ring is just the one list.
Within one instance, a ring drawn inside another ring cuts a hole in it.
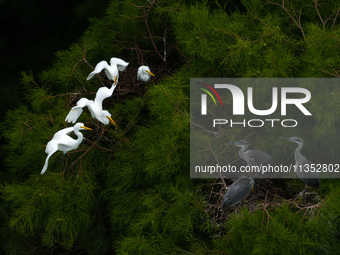
[{"label": "twig nest beneath the grey herons", "polygon": [[[234,180],[226,179],[229,187]],[[227,191],[224,182],[217,179],[216,182],[203,186],[203,192],[208,194],[205,211],[209,215],[210,223],[219,226],[226,222],[232,215],[240,213],[241,208],[246,207],[250,213],[262,210],[270,218],[270,209],[275,209],[288,204],[292,211],[303,215],[316,215],[321,208],[321,199],[315,192],[306,193],[306,201],[303,201],[299,193],[287,191],[286,182],[295,180],[285,179],[259,179],[256,180],[254,192],[241,203],[222,210],[223,197]]]}]

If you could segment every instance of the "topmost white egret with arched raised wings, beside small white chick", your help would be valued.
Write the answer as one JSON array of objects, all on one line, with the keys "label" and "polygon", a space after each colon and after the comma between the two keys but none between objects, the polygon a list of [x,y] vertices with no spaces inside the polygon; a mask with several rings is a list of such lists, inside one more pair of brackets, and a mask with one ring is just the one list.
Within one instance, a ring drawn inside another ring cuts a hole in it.
[{"label": "topmost white egret with arched raised wings, beside small white chick", "polygon": [[89,74],[87,80],[104,70],[107,78],[113,81],[115,77],[119,78],[118,71],[124,71],[128,65],[129,63],[120,58],[111,58],[110,65],[105,60],[100,61],[94,68],[94,71]]}]

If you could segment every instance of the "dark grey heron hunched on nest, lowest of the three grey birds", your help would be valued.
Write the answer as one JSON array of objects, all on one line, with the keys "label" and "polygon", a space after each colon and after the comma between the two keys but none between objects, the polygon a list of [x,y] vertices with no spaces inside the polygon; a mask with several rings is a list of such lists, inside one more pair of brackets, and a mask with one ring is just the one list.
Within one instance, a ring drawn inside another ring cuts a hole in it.
[{"label": "dark grey heron hunched on nest, lowest of the three grey birds", "polygon": [[255,181],[253,178],[241,176],[228,188],[222,202],[222,209],[233,206],[245,199],[253,189]]}]

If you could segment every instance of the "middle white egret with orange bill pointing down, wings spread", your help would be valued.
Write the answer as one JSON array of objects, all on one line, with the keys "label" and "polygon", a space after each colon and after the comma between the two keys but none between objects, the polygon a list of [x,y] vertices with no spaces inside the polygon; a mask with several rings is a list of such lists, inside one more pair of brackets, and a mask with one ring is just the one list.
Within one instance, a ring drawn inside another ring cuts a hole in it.
[{"label": "middle white egret with orange bill pointing down, wings spread", "polygon": [[96,93],[96,98],[93,100],[88,100],[87,98],[81,98],[78,100],[77,105],[72,107],[68,115],[66,116],[65,121],[75,123],[81,113],[83,112],[83,108],[87,107],[90,110],[92,118],[96,118],[104,125],[109,124],[111,122],[114,126],[117,126],[116,123],[111,118],[111,113],[107,110],[103,110],[103,100],[112,95],[114,89],[117,85],[117,76],[114,78],[114,83],[111,88],[101,87],[98,89]]}]

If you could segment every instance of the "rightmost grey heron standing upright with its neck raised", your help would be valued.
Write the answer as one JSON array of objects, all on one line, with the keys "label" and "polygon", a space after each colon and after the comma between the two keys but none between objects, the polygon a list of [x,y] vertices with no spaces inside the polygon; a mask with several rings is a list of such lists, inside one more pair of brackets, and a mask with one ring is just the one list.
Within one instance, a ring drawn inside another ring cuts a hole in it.
[{"label": "rightmost grey heron standing upright with its neck raised", "polygon": [[310,165],[312,162],[310,162],[308,159],[306,159],[301,154],[301,149],[303,147],[303,140],[300,137],[280,137],[283,139],[287,139],[291,142],[297,143],[298,147],[295,150],[295,172],[296,175],[305,182],[305,188],[302,191],[302,197],[305,199],[307,185],[318,188],[320,186],[320,179],[319,174],[317,172],[311,172]]}]

